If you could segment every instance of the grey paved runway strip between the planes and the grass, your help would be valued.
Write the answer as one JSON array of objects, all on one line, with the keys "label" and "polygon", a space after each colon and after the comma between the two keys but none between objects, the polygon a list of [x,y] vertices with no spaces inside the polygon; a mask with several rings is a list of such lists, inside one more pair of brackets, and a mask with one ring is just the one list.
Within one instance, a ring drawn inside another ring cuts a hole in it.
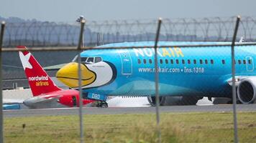
[{"label": "grey paved runway strip between the planes and the grass", "polygon": [[[171,106],[160,107],[160,112],[232,112],[232,104],[207,106]],[[78,114],[78,108],[62,109],[19,109],[6,110],[4,117],[32,117]],[[237,104],[237,112],[256,112],[256,104]],[[155,113],[155,107],[84,107],[83,114],[149,114]]]}]

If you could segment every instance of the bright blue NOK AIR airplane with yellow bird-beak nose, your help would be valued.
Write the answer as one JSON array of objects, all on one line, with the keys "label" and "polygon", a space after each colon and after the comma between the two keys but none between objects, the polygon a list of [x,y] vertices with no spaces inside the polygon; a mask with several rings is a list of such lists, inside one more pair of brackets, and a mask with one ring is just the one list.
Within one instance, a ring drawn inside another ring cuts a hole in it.
[{"label": "bright blue NOK AIR airplane with yellow bird-beak nose", "polygon": [[[98,47],[154,46],[154,41],[124,42]],[[216,46],[186,47],[181,45]],[[155,71],[159,72],[160,104],[196,104],[203,97],[232,98],[230,42],[159,41],[158,68],[153,48],[95,49],[81,52],[83,97],[105,100],[107,96],[147,96],[155,105]],[[170,47],[175,45],[175,47]],[[256,99],[256,46],[235,46],[238,102]],[[63,66],[56,77],[78,88],[78,63]]]}]

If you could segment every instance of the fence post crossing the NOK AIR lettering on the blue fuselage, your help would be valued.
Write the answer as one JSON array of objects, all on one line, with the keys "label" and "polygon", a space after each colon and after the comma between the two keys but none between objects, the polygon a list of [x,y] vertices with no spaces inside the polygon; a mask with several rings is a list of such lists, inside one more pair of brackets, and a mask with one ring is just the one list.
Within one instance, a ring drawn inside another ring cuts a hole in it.
[{"label": "fence post crossing the NOK AIR lettering on the blue fuselage", "polygon": [[157,115],[157,142],[161,142],[161,129],[160,129],[160,117],[159,117],[159,92],[158,92],[158,82],[159,82],[159,74],[158,74],[158,61],[157,61],[157,42],[159,39],[160,34],[160,28],[162,24],[162,19],[158,19],[158,25],[157,25],[157,33],[155,36],[155,109],[156,109],[156,115]]}]

